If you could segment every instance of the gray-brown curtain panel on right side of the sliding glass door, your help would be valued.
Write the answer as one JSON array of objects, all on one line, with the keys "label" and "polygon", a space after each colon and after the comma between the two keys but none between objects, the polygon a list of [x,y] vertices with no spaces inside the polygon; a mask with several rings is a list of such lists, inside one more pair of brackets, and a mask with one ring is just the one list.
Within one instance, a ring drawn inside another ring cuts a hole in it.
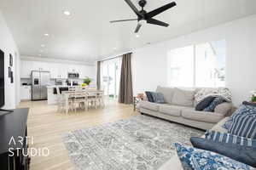
[{"label": "gray-brown curtain panel on right side of the sliding glass door", "polygon": [[122,59],[119,103],[132,104],[132,76],[131,76],[131,53],[124,54]]}]

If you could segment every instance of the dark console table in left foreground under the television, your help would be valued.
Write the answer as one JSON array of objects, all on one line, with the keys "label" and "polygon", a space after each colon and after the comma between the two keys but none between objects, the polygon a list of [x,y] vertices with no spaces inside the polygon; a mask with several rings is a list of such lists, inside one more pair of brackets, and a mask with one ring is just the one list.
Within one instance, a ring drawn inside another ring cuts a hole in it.
[{"label": "dark console table in left foreground under the television", "polygon": [[[22,150],[28,148],[26,144],[28,109],[13,111],[0,116],[0,167],[1,170],[28,170],[30,158],[22,154]],[[19,139],[24,140],[19,142]],[[14,156],[10,155],[10,148]]]}]

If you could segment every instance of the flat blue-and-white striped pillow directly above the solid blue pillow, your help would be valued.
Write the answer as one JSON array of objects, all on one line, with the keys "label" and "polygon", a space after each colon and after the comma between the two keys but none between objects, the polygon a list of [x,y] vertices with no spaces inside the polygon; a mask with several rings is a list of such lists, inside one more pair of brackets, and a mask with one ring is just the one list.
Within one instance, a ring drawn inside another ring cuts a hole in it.
[{"label": "flat blue-and-white striped pillow directly above the solid blue pillow", "polygon": [[239,144],[241,146],[250,146],[256,148],[256,139],[247,139],[241,136],[233,135],[231,133],[221,133],[217,131],[208,130],[205,133],[206,139],[227,144]]}]

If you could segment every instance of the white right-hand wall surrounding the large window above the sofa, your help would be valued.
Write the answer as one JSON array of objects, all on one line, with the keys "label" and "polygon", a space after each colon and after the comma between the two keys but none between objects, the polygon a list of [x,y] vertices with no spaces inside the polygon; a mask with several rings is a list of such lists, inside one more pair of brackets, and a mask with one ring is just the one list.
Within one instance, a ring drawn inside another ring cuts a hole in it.
[{"label": "white right-hand wall surrounding the large window above the sofa", "polygon": [[235,105],[247,100],[256,88],[256,14],[224,25],[152,44],[133,52],[134,94],[167,85],[167,53],[172,48],[225,39],[227,43],[226,86]]}]

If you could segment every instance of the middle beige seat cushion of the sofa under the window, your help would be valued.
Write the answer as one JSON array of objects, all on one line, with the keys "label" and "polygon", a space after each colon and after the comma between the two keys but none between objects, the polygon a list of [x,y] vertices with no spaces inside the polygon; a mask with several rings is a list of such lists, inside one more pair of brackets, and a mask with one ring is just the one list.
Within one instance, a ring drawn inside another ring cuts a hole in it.
[{"label": "middle beige seat cushion of the sofa under the window", "polygon": [[178,105],[160,105],[159,111],[170,116],[181,116],[183,109],[186,108]]}]

